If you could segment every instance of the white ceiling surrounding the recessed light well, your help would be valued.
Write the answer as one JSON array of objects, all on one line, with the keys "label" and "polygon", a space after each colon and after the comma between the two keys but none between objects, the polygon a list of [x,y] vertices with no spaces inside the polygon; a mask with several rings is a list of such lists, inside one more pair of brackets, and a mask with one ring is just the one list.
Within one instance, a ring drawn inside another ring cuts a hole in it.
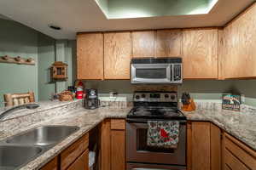
[{"label": "white ceiling surrounding the recessed light well", "polygon": [[[209,14],[108,20],[95,0],[1,0],[0,14],[56,39],[81,31],[144,30],[224,26],[254,0],[218,0]],[[48,25],[61,26],[61,31]]]}]

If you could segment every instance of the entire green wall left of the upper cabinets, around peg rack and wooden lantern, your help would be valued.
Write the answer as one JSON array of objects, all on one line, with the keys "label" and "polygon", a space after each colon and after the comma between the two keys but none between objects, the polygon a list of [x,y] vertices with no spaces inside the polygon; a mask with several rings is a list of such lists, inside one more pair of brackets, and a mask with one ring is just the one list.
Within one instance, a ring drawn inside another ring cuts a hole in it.
[{"label": "entire green wall left of the upper cabinets, around peg rack and wooden lantern", "polygon": [[[3,106],[3,94],[6,93],[31,90],[37,100],[47,100],[56,91],[71,86],[76,74],[75,48],[76,41],[56,41],[13,20],[0,20],[0,56],[32,57],[36,60],[36,65],[0,63],[0,106]],[[60,82],[62,86],[50,80],[50,66],[56,59],[68,65],[68,79]]]}]

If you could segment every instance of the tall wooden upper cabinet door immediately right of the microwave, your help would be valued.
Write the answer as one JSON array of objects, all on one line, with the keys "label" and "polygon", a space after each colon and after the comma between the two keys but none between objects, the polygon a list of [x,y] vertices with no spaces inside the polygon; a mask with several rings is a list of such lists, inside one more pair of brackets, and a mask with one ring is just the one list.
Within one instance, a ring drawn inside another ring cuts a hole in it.
[{"label": "tall wooden upper cabinet door immediately right of the microwave", "polygon": [[218,79],[218,29],[183,31],[183,78]]}]

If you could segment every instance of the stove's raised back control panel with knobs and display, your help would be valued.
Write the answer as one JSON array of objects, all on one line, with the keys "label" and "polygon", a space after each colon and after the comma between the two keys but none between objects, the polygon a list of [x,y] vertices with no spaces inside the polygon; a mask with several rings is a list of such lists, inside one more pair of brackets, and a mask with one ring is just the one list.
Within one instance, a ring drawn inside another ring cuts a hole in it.
[{"label": "stove's raised back control panel with knobs and display", "polygon": [[176,92],[135,92],[135,102],[177,102]]}]

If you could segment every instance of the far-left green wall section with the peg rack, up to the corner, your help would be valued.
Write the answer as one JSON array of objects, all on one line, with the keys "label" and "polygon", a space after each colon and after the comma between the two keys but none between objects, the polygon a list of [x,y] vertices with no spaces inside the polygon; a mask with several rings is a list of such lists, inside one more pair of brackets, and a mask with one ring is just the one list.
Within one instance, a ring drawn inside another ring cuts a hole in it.
[{"label": "far-left green wall section with the peg rack, up to the corner", "polygon": [[20,56],[36,60],[36,65],[0,63],[0,106],[3,94],[29,90],[38,99],[38,31],[11,20],[0,20],[0,56]]}]

